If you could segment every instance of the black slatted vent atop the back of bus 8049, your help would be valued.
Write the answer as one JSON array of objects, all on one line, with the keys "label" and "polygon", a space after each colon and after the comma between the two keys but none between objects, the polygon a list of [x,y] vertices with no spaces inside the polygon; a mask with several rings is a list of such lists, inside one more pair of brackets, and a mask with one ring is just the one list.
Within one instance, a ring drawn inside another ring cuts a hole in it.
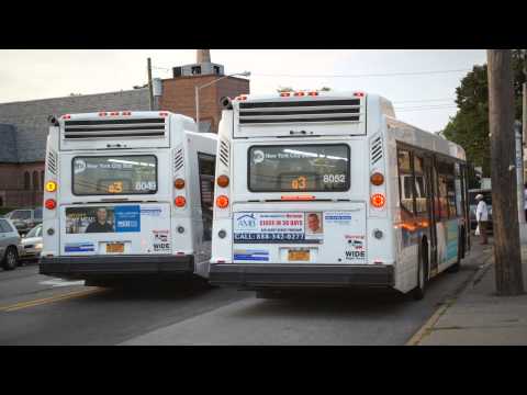
[{"label": "black slatted vent atop the back of bus 8049", "polygon": [[165,119],[65,121],[65,139],[165,137]]}]

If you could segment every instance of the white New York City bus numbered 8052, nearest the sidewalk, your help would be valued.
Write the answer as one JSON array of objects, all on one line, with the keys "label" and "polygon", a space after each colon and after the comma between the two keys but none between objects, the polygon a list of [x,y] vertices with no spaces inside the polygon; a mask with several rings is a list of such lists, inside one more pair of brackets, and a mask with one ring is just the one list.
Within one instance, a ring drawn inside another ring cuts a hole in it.
[{"label": "white New York City bus numbered 8052, nearest the sidewalk", "polygon": [[461,147],[362,92],[225,102],[210,282],[266,297],[383,286],[424,296],[469,247]]}]

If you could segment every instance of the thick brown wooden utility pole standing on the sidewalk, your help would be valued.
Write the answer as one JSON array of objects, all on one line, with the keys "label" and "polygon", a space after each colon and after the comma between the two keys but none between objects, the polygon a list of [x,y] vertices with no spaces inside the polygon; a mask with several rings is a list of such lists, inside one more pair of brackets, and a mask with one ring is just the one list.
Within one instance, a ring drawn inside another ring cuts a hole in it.
[{"label": "thick brown wooden utility pole standing on the sidewalk", "polygon": [[524,292],[516,187],[514,87],[509,49],[487,49],[494,266],[498,295]]}]

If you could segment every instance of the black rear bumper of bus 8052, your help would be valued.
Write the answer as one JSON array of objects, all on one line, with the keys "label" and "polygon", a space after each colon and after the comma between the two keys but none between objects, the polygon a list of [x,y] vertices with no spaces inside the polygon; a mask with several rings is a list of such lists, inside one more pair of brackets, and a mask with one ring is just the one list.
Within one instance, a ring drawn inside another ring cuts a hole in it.
[{"label": "black rear bumper of bus 8052", "polygon": [[393,266],[211,264],[209,282],[246,290],[290,287],[392,287]]}]

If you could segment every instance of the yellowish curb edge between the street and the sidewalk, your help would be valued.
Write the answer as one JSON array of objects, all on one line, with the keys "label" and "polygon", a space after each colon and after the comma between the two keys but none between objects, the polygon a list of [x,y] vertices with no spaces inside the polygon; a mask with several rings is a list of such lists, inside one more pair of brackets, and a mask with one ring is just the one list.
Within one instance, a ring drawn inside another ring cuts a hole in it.
[{"label": "yellowish curb edge between the street and the sidewalk", "polygon": [[492,252],[483,260],[483,264],[469,278],[461,283],[461,285],[453,291],[453,295],[447,297],[444,302],[439,304],[439,307],[434,312],[430,318],[410,338],[405,346],[419,346],[419,342],[431,332],[434,326],[437,324],[439,318],[447,312],[447,309],[453,305],[457,298],[464,293],[470,286],[478,284],[483,275],[489,271],[493,263]]}]

